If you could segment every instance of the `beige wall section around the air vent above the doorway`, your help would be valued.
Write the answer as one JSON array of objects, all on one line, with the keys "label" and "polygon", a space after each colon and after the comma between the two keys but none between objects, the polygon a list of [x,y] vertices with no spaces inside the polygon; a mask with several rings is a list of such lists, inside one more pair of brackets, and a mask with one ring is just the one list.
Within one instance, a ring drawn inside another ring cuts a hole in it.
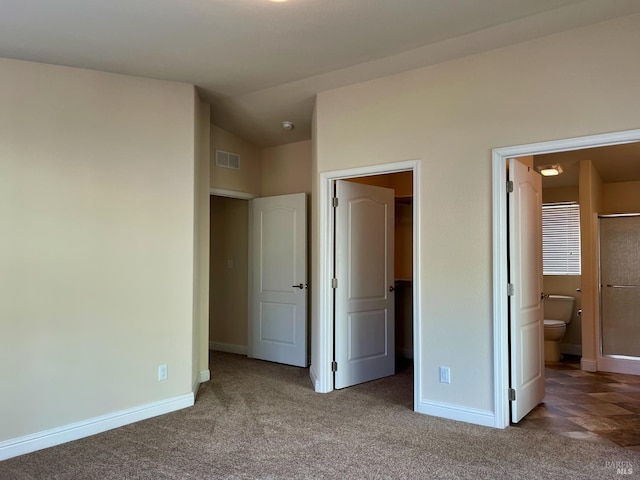
[{"label": "beige wall section around the air vent above the doorway", "polygon": [[[216,150],[240,155],[240,169],[216,166]],[[215,125],[211,125],[211,188],[260,195],[260,149]]]}]

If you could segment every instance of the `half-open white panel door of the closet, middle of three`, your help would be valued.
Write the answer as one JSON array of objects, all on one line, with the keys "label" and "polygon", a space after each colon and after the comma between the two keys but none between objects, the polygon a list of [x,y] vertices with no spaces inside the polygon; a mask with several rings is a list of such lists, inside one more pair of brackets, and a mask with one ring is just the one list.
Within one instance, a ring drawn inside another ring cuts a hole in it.
[{"label": "half-open white panel door of the closet, middle of three", "polygon": [[394,191],[336,182],[335,388],[395,373]]}]

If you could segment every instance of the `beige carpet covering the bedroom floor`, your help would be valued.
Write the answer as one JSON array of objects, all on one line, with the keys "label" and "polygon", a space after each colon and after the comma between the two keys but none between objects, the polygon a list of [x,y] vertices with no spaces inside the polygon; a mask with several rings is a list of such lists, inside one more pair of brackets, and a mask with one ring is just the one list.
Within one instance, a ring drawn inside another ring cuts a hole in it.
[{"label": "beige carpet covering the bedroom floor", "polygon": [[[640,453],[414,413],[411,372],[316,394],[306,369],[212,353],[192,408],[0,463],[0,479],[640,475]],[[617,468],[632,468],[621,475]]]}]

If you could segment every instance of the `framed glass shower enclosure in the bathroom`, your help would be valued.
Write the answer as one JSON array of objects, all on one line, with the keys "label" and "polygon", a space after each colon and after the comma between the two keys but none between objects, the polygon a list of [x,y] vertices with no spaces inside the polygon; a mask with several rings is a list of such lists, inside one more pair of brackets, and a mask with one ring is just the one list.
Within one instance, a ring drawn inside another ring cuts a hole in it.
[{"label": "framed glass shower enclosure in the bathroom", "polygon": [[638,361],[640,214],[602,215],[599,224],[601,357]]}]

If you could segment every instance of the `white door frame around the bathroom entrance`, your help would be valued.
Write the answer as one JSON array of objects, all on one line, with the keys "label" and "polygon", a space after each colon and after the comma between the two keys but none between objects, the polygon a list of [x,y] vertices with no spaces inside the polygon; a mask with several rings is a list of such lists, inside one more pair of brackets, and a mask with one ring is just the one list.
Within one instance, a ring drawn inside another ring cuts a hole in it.
[{"label": "white door frame around the bathroom entrance", "polygon": [[493,150],[493,363],[495,426],[509,425],[507,159],[640,141],[640,130],[530,143]]}]

